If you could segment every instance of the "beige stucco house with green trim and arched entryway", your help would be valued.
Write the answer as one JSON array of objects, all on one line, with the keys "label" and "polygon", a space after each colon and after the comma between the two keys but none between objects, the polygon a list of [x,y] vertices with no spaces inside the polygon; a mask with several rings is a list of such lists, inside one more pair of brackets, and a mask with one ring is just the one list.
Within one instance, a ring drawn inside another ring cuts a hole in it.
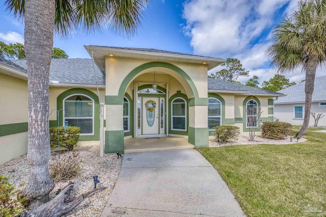
[{"label": "beige stucco house with green trim and arched entryway", "polygon": [[[208,146],[213,126],[235,125],[241,133],[248,132],[248,107],[261,107],[262,121],[273,121],[273,97],[283,96],[207,79],[207,71],[225,61],[220,58],[155,49],[85,48],[94,56],[100,96],[92,59],[52,59],[49,125],[58,126],[58,110],[60,126],[67,121],[82,129],[80,140],[99,140],[99,103],[105,103],[106,153],[124,152],[124,139],[130,137],[181,136],[195,147]],[[26,152],[26,80],[25,60],[0,58],[0,163]]]}]

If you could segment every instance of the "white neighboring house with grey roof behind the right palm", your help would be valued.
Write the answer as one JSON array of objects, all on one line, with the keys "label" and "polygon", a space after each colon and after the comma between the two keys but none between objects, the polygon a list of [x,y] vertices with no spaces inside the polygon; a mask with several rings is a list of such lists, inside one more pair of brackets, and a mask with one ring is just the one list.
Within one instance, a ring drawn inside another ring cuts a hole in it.
[{"label": "white neighboring house with grey roof behind the right palm", "polygon": [[[286,96],[278,97],[274,101],[275,118],[302,125],[305,116],[305,84],[306,82],[301,82],[279,91]],[[326,115],[326,76],[315,78],[311,112]],[[314,122],[315,119],[310,115],[309,125],[313,126]],[[319,119],[318,126],[326,126],[326,116]]]}]

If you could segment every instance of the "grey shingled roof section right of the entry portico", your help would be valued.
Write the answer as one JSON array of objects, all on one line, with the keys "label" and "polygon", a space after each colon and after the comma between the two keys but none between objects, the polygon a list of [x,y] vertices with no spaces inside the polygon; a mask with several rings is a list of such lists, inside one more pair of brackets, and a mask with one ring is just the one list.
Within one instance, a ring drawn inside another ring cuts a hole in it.
[{"label": "grey shingled roof section right of the entry portico", "polygon": [[208,91],[243,91],[243,94],[253,94],[253,95],[283,95],[280,92],[273,92],[261,88],[246,86],[242,84],[236,84],[229,81],[223,81],[220,79],[208,78]]}]

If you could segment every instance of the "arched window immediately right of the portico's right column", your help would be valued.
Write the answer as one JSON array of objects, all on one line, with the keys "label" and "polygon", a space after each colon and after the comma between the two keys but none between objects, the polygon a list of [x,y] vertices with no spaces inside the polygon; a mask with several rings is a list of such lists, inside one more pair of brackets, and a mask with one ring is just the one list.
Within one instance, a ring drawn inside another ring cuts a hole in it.
[{"label": "arched window immediately right of the portico's right column", "polygon": [[222,103],[216,98],[208,98],[208,129],[222,125]]}]

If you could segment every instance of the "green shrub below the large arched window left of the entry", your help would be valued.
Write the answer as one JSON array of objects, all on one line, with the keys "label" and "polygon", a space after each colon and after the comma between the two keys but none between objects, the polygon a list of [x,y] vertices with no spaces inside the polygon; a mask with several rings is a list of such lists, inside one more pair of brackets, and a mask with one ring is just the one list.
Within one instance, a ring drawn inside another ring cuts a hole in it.
[{"label": "green shrub below the large arched window left of the entry", "polygon": [[[58,147],[58,127],[49,129],[50,132],[50,146],[51,148]],[[65,131],[64,127],[59,127],[60,146],[73,150],[73,147],[79,140],[79,127],[68,127]]]}]

